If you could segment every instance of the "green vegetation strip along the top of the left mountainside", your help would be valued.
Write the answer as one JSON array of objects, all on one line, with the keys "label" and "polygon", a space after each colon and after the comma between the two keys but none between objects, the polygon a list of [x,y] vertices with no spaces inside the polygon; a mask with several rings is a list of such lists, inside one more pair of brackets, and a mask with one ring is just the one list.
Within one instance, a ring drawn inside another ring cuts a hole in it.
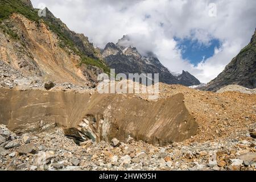
[{"label": "green vegetation strip along the top of the left mountainside", "polygon": [[[72,49],[77,55],[81,57],[81,63],[94,65],[96,67],[102,68],[105,73],[109,73],[110,69],[104,64],[103,61],[93,59],[89,57],[88,55],[85,55],[84,52],[79,51],[79,49],[76,47],[76,45],[73,43],[71,39],[68,38],[67,35],[61,31],[60,26],[56,26],[51,21],[40,18],[38,16],[38,10],[31,9],[30,7],[26,6],[22,1],[20,0],[0,0],[0,23],[3,22],[3,20],[8,19],[11,14],[13,13],[19,13],[24,15],[27,19],[30,19],[34,22],[39,23],[40,19],[44,20],[44,23],[46,23],[50,30],[55,32],[61,40],[59,46],[61,48],[68,47],[69,49]],[[18,39],[18,35],[13,32],[10,28],[4,26],[3,24],[0,24],[0,28],[7,34],[9,34],[14,39]]]}]

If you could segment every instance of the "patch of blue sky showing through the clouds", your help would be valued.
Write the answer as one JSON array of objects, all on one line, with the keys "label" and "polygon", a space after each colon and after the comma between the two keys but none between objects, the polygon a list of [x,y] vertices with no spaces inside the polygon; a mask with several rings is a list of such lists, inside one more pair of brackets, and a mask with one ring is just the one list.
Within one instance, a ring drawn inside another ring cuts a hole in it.
[{"label": "patch of blue sky showing through the clouds", "polygon": [[203,60],[207,60],[214,55],[214,49],[220,48],[218,39],[212,39],[208,44],[203,44],[198,40],[174,38],[177,42],[177,49],[181,50],[182,59],[188,60],[191,64],[197,65]]}]

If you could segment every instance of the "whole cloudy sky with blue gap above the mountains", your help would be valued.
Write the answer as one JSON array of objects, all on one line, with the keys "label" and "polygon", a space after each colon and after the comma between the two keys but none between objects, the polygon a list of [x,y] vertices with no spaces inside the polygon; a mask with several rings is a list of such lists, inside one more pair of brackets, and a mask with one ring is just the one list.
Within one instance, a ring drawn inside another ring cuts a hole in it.
[{"label": "whole cloudy sky with blue gap above the mountains", "polygon": [[245,47],[256,28],[255,0],[32,0],[104,48],[129,35],[143,55],[207,83]]}]

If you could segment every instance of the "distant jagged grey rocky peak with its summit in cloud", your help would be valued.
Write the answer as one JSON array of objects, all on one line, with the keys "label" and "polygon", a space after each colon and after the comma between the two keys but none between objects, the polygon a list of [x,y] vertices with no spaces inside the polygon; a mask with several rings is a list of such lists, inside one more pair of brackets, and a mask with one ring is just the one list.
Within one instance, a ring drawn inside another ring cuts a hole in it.
[{"label": "distant jagged grey rocky peak with its summit in cloud", "polygon": [[125,73],[126,75],[129,73],[159,73],[159,81],[166,84],[181,84],[185,86],[200,84],[200,81],[188,72],[183,72],[179,76],[172,75],[152,52],[141,55],[135,47],[123,47],[121,42],[126,40],[129,40],[127,35],[119,39],[117,44],[106,44],[104,50],[102,50],[102,56],[109,67],[115,69],[115,73]]}]

